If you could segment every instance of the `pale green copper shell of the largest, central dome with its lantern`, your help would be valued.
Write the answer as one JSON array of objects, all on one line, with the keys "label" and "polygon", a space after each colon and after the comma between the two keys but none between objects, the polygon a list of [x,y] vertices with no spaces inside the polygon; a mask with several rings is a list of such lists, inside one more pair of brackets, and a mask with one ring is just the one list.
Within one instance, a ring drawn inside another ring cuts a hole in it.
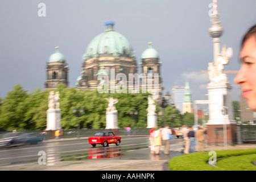
[{"label": "pale green copper shell of the largest, central dome with its lantern", "polygon": [[135,59],[129,41],[125,36],[114,31],[114,22],[106,22],[105,27],[105,32],[97,35],[88,44],[82,60],[100,56],[125,56]]}]

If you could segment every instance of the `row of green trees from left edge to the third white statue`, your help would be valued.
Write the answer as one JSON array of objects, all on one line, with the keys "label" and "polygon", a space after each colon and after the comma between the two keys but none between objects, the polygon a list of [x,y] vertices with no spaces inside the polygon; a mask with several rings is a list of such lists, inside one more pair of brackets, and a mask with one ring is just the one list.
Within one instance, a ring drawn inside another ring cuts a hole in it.
[{"label": "row of green trees from left edge to the third white statue", "polygon": [[[48,96],[50,91],[59,91],[61,126],[64,129],[76,128],[104,128],[106,125],[106,108],[108,101],[105,98],[118,98],[119,102],[115,105],[118,110],[118,126],[133,126],[134,121],[129,114],[131,110],[138,111],[138,117],[135,119],[136,127],[147,126],[147,97],[146,94],[131,93],[98,93],[97,90],[77,90],[76,88],[67,88],[59,84],[56,89],[27,93],[22,86],[15,85],[9,92],[3,102],[0,103],[0,130],[36,130],[46,129]],[[72,110],[76,108],[80,113],[77,117]],[[157,109],[158,111],[159,109]]]}]

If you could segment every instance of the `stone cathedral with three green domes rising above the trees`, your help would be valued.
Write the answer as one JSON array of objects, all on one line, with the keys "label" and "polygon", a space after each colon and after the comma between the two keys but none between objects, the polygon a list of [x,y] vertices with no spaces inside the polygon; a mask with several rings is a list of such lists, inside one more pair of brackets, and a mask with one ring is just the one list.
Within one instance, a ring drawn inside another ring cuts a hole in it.
[{"label": "stone cathedral with three green domes rising above the trees", "polygon": [[[47,79],[45,88],[56,88],[63,83],[68,86],[68,64],[65,56],[55,47],[55,53],[49,56],[47,61]],[[162,98],[162,77],[160,75],[161,62],[158,52],[148,42],[148,48],[141,55],[141,73],[146,76],[158,74],[158,98]],[[76,88],[81,90],[97,89],[100,73],[110,76],[110,70],[114,69],[115,76],[123,73],[129,77],[129,73],[138,73],[137,60],[129,41],[118,32],[114,31],[114,22],[105,22],[105,31],[95,36],[88,44],[82,55],[82,72],[78,74]],[[115,78],[115,77],[114,77]],[[152,76],[152,82],[154,77]],[[115,80],[117,84],[119,80]],[[152,84],[152,83],[151,83]],[[153,85],[153,84],[152,84]],[[141,86],[141,85],[140,85]],[[153,86],[154,87],[154,86]]]}]

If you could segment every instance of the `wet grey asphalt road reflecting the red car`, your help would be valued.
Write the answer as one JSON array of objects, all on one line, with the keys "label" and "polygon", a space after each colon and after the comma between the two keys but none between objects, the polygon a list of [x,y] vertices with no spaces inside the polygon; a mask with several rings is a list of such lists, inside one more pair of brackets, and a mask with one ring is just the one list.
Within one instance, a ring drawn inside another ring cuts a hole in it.
[{"label": "wet grey asphalt road reflecting the red car", "polygon": [[[48,165],[54,165],[61,161],[93,160],[119,158],[122,160],[151,160],[159,156],[149,154],[149,140],[147,136],[122,137],[119,146],[109,144],[109,147],[97,145],[92,147],[88,139],[73,140],[46,140],[40,144],[24,147],[1,148],[0,167],[14,164],[38,163],[40,152],[46,154]],[[172,138],[170,150],[180,151],[182,139]],[[161,158],[166,158],[164,155]]]}]

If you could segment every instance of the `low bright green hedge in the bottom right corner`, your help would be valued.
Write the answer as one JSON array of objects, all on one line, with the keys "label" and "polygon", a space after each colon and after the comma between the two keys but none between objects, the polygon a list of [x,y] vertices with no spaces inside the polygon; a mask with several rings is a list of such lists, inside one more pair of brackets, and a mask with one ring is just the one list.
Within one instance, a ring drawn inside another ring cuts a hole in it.
[{"label": "low bright green hedge in the bottom right corner", "polygon": [[174,157],[168,163],[172,171],[256,171],[256,148],[217,151],[216,167],[208,163],[209,152],[195,152]]}]

